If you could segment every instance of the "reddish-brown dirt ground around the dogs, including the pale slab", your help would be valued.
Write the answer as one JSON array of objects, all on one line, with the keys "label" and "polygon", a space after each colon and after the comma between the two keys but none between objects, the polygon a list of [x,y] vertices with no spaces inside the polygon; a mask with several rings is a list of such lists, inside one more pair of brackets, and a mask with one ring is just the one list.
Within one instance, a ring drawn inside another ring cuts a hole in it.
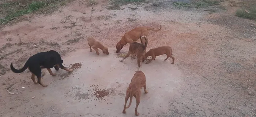
[{"label": "reddish-brown dirt ground around the dogs, including the pale slab", "polygon": [[[52,15],[25,15],[26,21],[1,29],[0,117],[135,116],[135,100],[126,114],[121,112],[137,65],[131,58],[119,62],[115,45],[135,27],[160,25],[160,31],[149,31],[147,50],[169,45],[175,63],[163,61],[163,55],[142,64],[149,93],[142,94],[141,117],[255,117],[255,21],[235,16],[230,1],[222,3],[226,10],[212,6],[217,12],[155,2],[157,6],[146,2],[108,10],[105,0],[91,7],[76,0]],[[109,47],[110,55],[90,53],[89,35]],[[120,53],[127,53],[128,47]],[[51,49],[61,54],[66,66],[81,62],[81,68],[73,73],[59,70],[54,77],[44,69],[46,88],[33,84],[29,70],[10,70],[11,62],[22,68],[30,56]],[[92,85],[108,90],[108,104],[93,103]]]}]

